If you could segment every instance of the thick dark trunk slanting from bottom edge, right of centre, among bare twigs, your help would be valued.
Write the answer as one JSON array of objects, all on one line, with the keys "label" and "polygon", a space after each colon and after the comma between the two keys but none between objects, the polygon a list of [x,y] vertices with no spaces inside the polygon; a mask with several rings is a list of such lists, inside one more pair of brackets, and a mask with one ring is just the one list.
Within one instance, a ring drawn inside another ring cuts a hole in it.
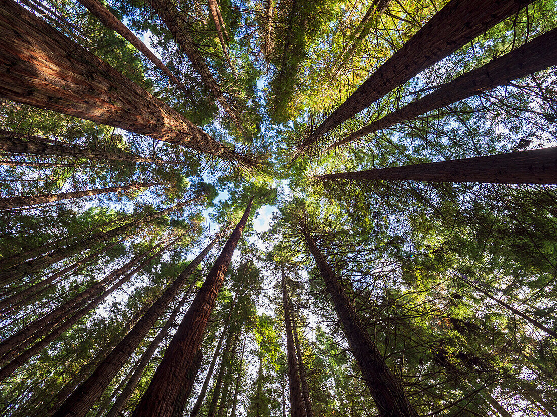
[{"label": "thick dark trunk slanting from bottom edge, right of centre, among bare twigs", "polygon": [[343,324],[346,338],[379,414],[386,417],[417,417],[418,413],[406,399],[400,380],[387,368],[383,356],[356,316],[353,304],[344,294],[339,277],[317,248],[304,221],[300,221],[300,229],[323,277],[326,290],[333,299],[336,314]]}]

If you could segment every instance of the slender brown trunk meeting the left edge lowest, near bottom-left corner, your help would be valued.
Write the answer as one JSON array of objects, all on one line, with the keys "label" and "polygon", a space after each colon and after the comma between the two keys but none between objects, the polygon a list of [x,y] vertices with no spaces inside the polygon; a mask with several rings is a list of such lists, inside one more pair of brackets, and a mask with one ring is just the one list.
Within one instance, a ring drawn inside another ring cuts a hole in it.
[{"label": "slender brown trunk meeting the left edge lowest, near bottom-left corner", "polygon": [[[112,294],[116,289],[118,289],[124,282],[128,281],[132,276],[134,276],[139,270],[143,269],[145,265],[147,265],[150,261],[154,259],[157,255],[159,255],[163,250],[165,250],[169,245],[163,247],[162,250],[155,252],[152,256],[148,259],[141,262],[141,264],[133,269],[131,272],[128,272],[123,277],[121,277],[118,281],[116,281],[113,285],[111,285],[108,289],[101,292],[101,294],[96,295],[94,298],[92,296],[87,298],[89,304],[81,307],[79,311],[77,311],[73,316],[68,317],[65,319],[62,324],[58,325],[54,330],[48,333],[43,339],[39,340],[35,345],[31,346],[29,349],[23,351],[17,358],[14,358],[10,363],[0,369],[0,381],[4,378],[7,378],[10,374],[13,373],[14,370],[19,368],[19,366],[25,364],[29,359],[35,356],[37,353],[41,351],[44,347],[50,344],[51,341],[55,340],[58,336],[62,335],[66,330],[70,329],[70,327],[74,326],[77,321],[85,317],[91,310],[95,309],[102,301],[106,299],[110,294]],[[91,299],[92,298],[92,299]],[[81,306],[79,304],[76,308]],[[145,311],[146,306],[144,309],[141,310],[141,315]]]}]

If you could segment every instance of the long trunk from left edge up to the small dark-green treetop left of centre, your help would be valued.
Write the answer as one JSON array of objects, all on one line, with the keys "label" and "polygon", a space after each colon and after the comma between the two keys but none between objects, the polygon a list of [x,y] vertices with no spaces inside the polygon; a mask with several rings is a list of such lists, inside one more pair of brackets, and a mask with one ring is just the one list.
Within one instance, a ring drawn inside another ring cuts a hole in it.
[{"label": "long trunk from left edge up to the small dark-green treetop left of centre", "polygon": [[8,269],[0,272],[0,285],[6,285],[10,282],[17,281],[24,276],[35,274],[36,272],[39,272],[48,266],[54,265],[57,262],[66,259],[67,257],[78,254],[79,252],[86,249],[90,249],[100,242],[111,240],[114,237],[119,237],[123,234],[128,234],[131,230],[135,229],[135,227],[159,219],[160,217],[174,210],[178,210],[184,206],[189,205],[190,203],[198,201],[199,199],[201,199],[201,197],[203,197],[203,195],[198,195],[188,201],[177,203],[172,207],[167,207],[167,209],[160,210],[152,215],[145,216],[143,217],[143,219],[137,219],[128,222],[122,226],[116,227],[115,229],[106,232],[97,232],[82,240],[81,242],[76,242],[74,244],[67,245],[66,247],[55,249],[45,256],[27,261],[23,264],[9,267]]}]

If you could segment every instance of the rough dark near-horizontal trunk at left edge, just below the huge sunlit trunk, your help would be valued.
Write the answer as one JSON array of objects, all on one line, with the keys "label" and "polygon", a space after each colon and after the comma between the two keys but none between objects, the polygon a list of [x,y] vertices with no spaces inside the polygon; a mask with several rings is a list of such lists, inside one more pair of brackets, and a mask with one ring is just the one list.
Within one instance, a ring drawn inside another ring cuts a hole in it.
[{"label": "rough dark near-horizontal trunk at left edge, just below the huge sunlit trunk", "polygon": [[17,132],[0,130],[0,150],[4,152],[17,153],[21,155],[53,155],[60,157],[74,157],[95,159],[99,162],[128,161],[146,162],[156,165],[178,163],[176,161],[164,161],[155,158],[145,158],[131,155],[131,153],[110,152],[105,150],[91,150],[82,148],[72,143],[46,143],[44,138],[31,135],[22,135]]}]

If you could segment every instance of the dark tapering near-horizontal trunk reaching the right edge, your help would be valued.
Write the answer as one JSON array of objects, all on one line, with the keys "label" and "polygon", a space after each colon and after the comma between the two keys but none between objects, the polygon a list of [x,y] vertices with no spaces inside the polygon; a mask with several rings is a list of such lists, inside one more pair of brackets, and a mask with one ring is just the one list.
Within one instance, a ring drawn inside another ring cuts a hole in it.
[{"label": "dark tapering near-horizontal trunk reaching the right edge", "polygon": [[417,163],[316,177],[319,181],[429,181],[557,184],[557,146],[452,161]]}]

